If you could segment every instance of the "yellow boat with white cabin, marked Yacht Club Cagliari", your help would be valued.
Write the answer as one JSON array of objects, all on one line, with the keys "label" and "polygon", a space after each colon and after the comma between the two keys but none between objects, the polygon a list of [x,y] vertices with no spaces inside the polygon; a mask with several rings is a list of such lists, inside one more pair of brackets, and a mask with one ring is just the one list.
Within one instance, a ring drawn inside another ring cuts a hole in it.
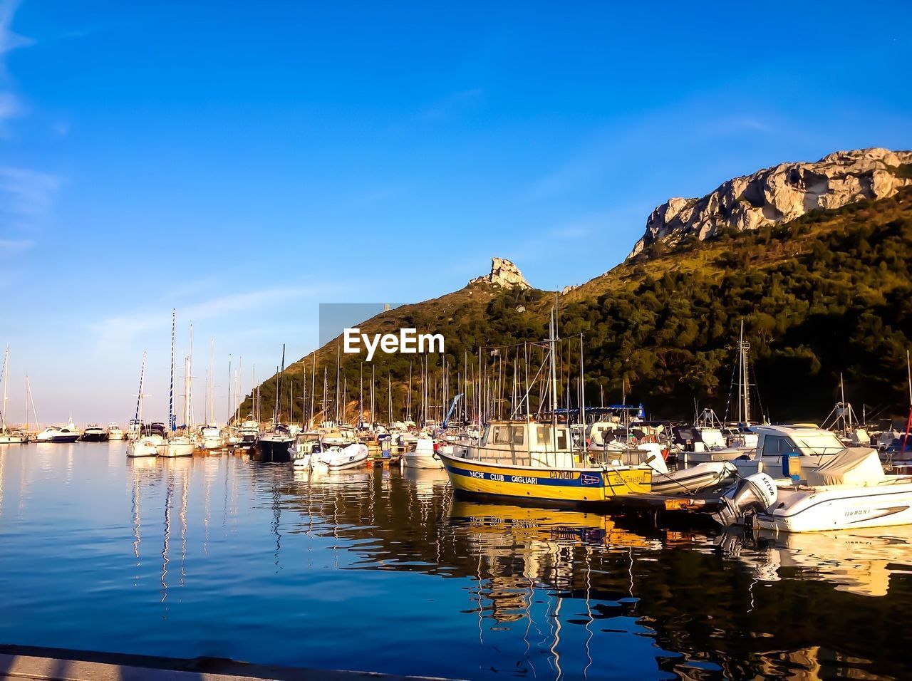
[{"label": "yellow boat with white cabin, marked Yacht Club Cagliari", "polygon": [[565,424],[493,421],[477,444],[438,452],[454,490],[557,504],[605,502],[648,494],[648,466],[592,466],[571,446]]}]

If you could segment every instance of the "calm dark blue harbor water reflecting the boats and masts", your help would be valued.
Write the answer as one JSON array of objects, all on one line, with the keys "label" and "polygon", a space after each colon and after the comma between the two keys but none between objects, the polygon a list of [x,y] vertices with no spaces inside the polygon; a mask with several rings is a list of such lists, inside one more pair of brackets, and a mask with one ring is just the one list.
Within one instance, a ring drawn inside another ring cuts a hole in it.
[{"label": "calm dark blue harbor water reflecting the boats and masts", "polygon": [[0,643],[456,678],[907,676],[912,530],[724,536],[125,443],[0,448]]}]

